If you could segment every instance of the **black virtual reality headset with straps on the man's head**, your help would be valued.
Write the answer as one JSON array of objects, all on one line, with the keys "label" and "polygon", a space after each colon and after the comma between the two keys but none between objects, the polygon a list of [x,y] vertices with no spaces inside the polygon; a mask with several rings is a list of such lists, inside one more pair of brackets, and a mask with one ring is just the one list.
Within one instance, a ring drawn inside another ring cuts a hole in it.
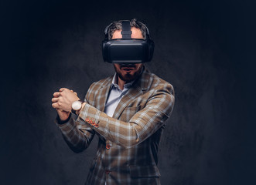
[{"label": "black virtual reality headset with straps on the man's head", "polygon": [[[142,22],[140,24],[144,25]],[[154,42],[150,39],[148,28],[146,28],[145,39],[131,38],[130,21],[121,21],[121,39],[108,39],[108,25],[104,31],[105,39],[102,42],[102,55],[105,62],[131,64],[149,62],[154,53]]]}]

